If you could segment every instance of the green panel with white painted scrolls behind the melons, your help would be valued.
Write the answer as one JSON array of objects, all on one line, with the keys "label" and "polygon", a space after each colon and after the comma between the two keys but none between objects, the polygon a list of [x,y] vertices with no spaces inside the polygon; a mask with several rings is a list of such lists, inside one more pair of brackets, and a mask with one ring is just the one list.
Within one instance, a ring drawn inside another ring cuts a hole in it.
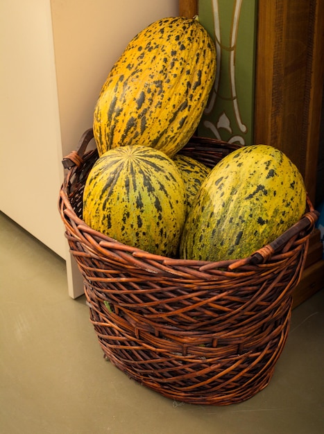
[{"label": "green panel with white painted scrolls behind the melons", "polygon": [[198,134],[252,144],[257,0],[199,0],[198,6],[217,52],[216,80]]}]

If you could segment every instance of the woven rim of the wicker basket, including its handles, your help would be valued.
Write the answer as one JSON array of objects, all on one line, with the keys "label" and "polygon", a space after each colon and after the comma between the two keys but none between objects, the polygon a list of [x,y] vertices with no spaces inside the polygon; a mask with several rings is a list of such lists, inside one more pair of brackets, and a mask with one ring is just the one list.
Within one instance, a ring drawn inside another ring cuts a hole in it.
[{"label": "woven rim of the wicker basket, including its handles", "polygon": [[[237,268],[241,268],[242,266],[259,265],[265,263],[266,261],[271,259],[271,257],[273,257],[276,252],[282,250],[282,248],[284,248],[284,246],[291,239],[296,239],[300,232],[307,231],[307,229],[311,229],[312,227],[314,227],[316,220],[318,220],[319,213],[316,209],[314,209],[314,206],[312,205],[312,202],[307,194],[306,205],[308,211],[305,212],[302,218],[300,218],[297,223],[289,227],[289,229],[287,229],[280,236],[278,236],[278,238],[275,238],[275,240],[273,240],[271,243],[264,245],[259,250],[256,250],[255,252],[250,254],[249,257],[245,257],[243,259],[224,259],[223,261],[173,259],[170,257],[164,257],[160,254],[146,252],[146,250],[142,250],[136,247],[131,247],[130,245],[121,243],[120,241],[89,227],[81,218],[76,215],[76,212],[74,211],[73,207],[71,207],[71,204],[69,202],[67,189],[71,175],[73,175],[76,170],[80,169],[83,166],[87,158],[92,157],[92,155],[96,153],[96,149],[86,152],[87,146],[93,138],[93,129],[89,128],[81,136],[76,150],[72,151],[69,155],[62,159],[62,165],[65,169],[67,169],[67,171],[65,171],[65,178],[60,188],[60,197],[58,203],[60,215],[65,224],[67,224],[66,218],[74,220],[74,222],[76,223],[76,229],[87,234],[88,241],[89,237],[101,239],[99,243],[94,244],[96,244],[96,247],[99,246],[103,253],[107,249],[114,248],[114,250],[120,250],[122,252],[127,252],[128,254],[131,254],[131,256],[133,257],[134,265],[136,265],[137,261],[140,261],[141,259],[146,259],[147,261],[160,261],[165,266],[195,266],[198,267],[199,270],[201,270],[202,272],[207,272],[208,270],[214,268],[228,268],[228,270],[230,271],[235,271],[237,270]],[[198,136],[191,137],[187,144],[190,146],[190,144],[195,143],[228,146],[229,148],[232,148],[232,150],[241,147],[241,145],[229,144],[228,142],[219,139]]]}]

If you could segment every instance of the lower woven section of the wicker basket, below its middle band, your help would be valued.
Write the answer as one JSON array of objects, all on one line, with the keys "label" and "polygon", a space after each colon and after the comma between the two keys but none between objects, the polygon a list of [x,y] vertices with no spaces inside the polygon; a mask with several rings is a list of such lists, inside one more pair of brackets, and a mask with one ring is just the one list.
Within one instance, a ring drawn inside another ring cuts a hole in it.
[{"label": "lower woven section of the wicker basket, below its middle band", "polygon": [[213,406],[246,401],[266,388],[287,340],[290,318],[289,307],[283,323],[273,322],[271,333],[267,329],[267,339],[262,336],[258,347],[241,354],[230,354],[237,348],[234,345],[201,349],[191,342],[183,355],[157,345],[163,342],[161,338],[147,333],[136,336],[129,324],[122,329],[120,322],[118,327],[107,318],[103,322],[90,307],[90,320],[105,358],[130,379],[169,399]]}]

